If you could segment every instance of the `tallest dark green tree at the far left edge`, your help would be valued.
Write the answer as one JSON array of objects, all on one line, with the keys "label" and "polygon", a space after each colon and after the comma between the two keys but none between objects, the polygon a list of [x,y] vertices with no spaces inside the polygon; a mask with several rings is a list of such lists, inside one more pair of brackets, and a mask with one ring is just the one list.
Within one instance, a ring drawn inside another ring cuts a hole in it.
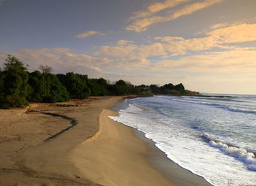
[{"label": "tallest dark green tree at the far left edge", "polygon": [[18,58],[8,55],[0,72],[0,105],[27,106],[29,102],[29,72]]}]

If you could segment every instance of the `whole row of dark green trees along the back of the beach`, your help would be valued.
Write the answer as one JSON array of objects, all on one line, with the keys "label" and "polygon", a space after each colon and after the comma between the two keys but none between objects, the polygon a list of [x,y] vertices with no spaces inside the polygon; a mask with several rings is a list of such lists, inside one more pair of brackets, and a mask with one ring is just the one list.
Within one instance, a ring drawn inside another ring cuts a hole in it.
[{"label": "whole row of dark green trees along the back of the beach", "polygon": [[104,78],[90,79],[85,74],[52,74],[49,66],[40,66],[40,71],[28,71],[28,66],[15,56],[7,55],[0,69],[0,108],[28,106],[29,102],[55,103],[70,98],[88,96],[136,95],[193,95],[181,83],[158,85],[132,85],[124,80],[111,83]]}]

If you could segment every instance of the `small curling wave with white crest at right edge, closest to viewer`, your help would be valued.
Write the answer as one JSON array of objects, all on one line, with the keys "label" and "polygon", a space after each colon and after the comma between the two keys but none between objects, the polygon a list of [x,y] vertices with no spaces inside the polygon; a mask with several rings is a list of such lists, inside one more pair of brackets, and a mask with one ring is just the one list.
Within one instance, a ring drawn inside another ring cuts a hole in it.
[{"label": "small curling wave with white crest at right edge, closest to viewer", "polygon": [[233,145],[231,143],[220,142],[219,140],[214,139],[211,136],[208,136],[207,134],[203,134],[201,137],[202,139],[207,141],[208,144],[211,145],[211,147],[218,148],[219,150],[224,152],[225,155],[230,155],[242,161],[243,163],[246,164],[246,167],[250,171],[256,171],[255,152],[249,152],[249,150],[237,147],[236,145]]}]

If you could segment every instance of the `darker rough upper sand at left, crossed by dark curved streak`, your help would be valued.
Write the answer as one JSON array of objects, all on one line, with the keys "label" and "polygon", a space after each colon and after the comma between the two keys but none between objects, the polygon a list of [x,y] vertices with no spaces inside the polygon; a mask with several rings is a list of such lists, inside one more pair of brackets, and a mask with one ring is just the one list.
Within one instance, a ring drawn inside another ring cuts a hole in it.
[{"label": "darker rough upper sand at left, crossed by dark curved streak", "polygon": [[80,176],[69,154],[99,131],[102,109],[120,99],[91,97],[58,106],[0,110],[5,116],[0,117],[0,185],[97,185]]}]

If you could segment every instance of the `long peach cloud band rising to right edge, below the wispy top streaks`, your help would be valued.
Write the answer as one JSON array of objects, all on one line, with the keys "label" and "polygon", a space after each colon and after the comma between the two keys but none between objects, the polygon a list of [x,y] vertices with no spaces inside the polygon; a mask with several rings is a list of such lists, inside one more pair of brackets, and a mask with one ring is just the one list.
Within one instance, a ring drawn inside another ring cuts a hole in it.
[{"label": "long peach cloud band rising to right edge, below the wispy top streaks", "polygon": [[232,43],[256,41],[256,24],[238,24],[206,31],[205,36],[185,39],[179,36],[155,37],[151,44],[135,44],[132,41],[119,40],[114,45],[104,45],[94,51],[94,55],[110,58],[150,58],[160,56],[168,58],[174,55],[186,55],[189,51],[211,50],[219,48],[233,50]]}]

